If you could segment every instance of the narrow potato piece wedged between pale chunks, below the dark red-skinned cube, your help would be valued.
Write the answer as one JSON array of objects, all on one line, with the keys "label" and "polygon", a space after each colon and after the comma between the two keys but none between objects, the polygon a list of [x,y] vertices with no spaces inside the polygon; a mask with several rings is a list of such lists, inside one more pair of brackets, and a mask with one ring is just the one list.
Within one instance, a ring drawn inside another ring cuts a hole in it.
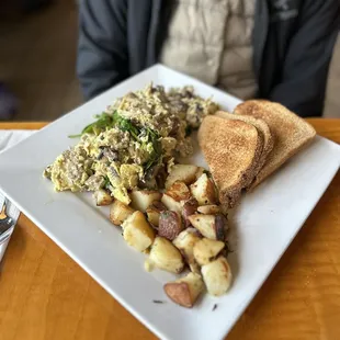
[{"label": "narrow potato piece wedged between pale chunks, below the dark red-skinned cube", "polygon": [[193,249],[197,241],[200,241],[201,237],[197,235],[196,229],[188,228],[183,230],[173,241],[172,243],[179,249],[189,264],[190,270],[194,273],[200,273],[200,268],[195,261]]}]

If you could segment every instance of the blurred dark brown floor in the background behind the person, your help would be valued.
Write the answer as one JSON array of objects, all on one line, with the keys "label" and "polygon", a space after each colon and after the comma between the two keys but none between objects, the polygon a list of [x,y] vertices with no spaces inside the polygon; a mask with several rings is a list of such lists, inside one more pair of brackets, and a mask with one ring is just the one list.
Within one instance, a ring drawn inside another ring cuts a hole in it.
[{"label": "blurred dark brown floor in the background behind the person", "polygon": [[[0,82],[20,99],[16,121],[52,121],[82,101],[75,75],[78,7],[75,0],[55,0],[31,14],[1,9],[14,2],[0,0]],[[340,116],[340,39],[336,50],[327,116]]]}]

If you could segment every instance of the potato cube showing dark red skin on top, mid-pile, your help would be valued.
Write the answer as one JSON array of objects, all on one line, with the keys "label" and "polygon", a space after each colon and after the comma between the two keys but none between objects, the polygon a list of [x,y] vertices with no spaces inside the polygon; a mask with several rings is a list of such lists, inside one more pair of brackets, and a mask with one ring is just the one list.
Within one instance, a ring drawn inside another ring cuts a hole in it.
[{"label": "potato cube showing dark red skin on top, mid-pile", "polygon": [[165,211],[159,216],[158,235],[172,241],[183,230],[181,215],[177,212]]}]

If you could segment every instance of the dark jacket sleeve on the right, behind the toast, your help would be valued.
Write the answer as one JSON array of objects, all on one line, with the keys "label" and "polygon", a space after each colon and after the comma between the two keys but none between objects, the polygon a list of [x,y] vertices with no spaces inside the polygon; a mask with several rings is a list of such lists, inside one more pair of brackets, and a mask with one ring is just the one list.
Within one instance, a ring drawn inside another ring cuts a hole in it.
[{"label": "dark jacket sleeve on the right, behind the toast", "polygon": [[282,70],[270,94],[301,116],[322,114],[328,68],[339,32],[339,0],[306,0]]}]

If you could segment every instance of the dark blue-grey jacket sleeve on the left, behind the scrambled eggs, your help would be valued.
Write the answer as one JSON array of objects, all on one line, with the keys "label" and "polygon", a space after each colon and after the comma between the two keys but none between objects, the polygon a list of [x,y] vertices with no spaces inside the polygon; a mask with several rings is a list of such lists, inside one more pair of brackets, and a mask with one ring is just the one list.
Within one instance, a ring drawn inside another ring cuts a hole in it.
[{"label": "dark blue-grey jacket sleeve on the left, behind the scrambled eggs", "polygon": [[80,2],[77,75],[86,99],[107,90],[128,75],[125,2]]}]

